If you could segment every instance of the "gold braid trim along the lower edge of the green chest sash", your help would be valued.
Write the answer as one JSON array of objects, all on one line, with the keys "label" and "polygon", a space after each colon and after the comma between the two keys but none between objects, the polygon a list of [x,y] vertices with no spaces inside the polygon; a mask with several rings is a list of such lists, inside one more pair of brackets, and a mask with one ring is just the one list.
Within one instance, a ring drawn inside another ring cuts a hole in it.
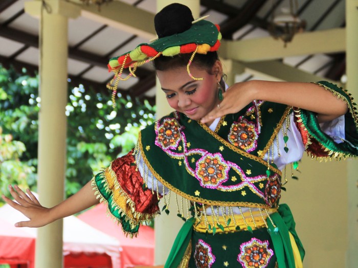
[{"label": "gold braid trim along the lower edge of the green chest sash", "polygon": [[[142,133],[139,132],[139,137],[138,137],[138,143],[139,143],[139,150],[141,152],[144,152],[143,150],[143,144],[142,144]],[[203,204],[208,204],[208,205],[212,205],[212,206],[226,206],[226,207],[230,207],[230,206],[237,206],[237,207],[252,207],[252,208],[266,208],[266,209],[271,209],[271,207],[269,205],[266,204],[257,204],[257,203],[251,203],[251,202],[227,202],[227,201],[212,201],[212,200],[207,200],[207,199],[203,199],[203,198],[199,198],[199,197],[193,197],[190,196],[189,194],[173,187],[170,183],[168,183],[167,181],[165,181],[158,173],[155,172],[154,168],[151,166],[151,164],[149,163],[147,157],[145,156],[144,153],[141,154],[144,163],[147,165],[147,167],[149,168],[150,172],[153,174],[153,176],[159,180],[164,186],[166,186],[169,190],[179,194],[180,196],[188,199],[189,201],[192,202],[198,202],[198,203],[203,203]],[[261,158],[258,158],[261,161],[263,161]],[[263,161],[263,163],[266,163]],[[274,170],[277,170],[276,168],[272,167]],[[279,171],[278,171],[279,172]],[[279,172],[281,173],[281,172]]]}]

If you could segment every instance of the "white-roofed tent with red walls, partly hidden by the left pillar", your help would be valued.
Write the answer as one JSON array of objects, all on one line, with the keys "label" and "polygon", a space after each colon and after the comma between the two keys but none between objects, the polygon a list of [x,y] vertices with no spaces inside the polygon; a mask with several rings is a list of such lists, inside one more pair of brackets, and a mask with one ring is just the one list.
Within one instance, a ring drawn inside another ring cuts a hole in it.
[{"label": "white-roofed tent with red walls, partly hidden by the left pillar", "polygon": [[[0,264],[33,268],[36,228],[16,228],[14,223],[27,218],[9,205],[0,208]],[[64,267],[119,268],[120,242],[85,224],[75,216],[63,221]]]}]

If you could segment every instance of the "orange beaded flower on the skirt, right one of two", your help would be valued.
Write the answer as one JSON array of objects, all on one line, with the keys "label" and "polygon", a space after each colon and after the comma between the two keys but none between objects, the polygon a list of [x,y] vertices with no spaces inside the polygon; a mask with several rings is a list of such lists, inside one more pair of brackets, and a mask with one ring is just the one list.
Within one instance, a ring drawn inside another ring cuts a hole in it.
[{"label": "orange beaded flower on the skirt, right one of two", "polygon": [[241,244],[237,261],[243,267],[265,268],[273,255],[273,250],[269,248],[269,241],[261,241],[254,237],[250,241]]}]

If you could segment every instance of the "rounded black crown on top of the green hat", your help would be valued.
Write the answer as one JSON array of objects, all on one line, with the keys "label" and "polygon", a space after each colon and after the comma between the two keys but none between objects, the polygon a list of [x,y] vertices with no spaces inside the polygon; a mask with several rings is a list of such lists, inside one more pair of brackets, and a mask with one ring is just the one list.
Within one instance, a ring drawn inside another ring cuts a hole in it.
[{"label": "rounded black crown on top of the green hat", "polygon": [[193,20],[191,10],[187,6],[174,3],[155,15],[155,32],[159,38],[180,34],[190,29]]}]

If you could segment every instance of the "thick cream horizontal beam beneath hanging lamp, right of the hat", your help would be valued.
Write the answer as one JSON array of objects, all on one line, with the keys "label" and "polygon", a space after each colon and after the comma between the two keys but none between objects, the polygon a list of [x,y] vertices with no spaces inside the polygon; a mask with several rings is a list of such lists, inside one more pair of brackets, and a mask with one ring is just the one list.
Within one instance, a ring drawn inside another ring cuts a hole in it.
[{"label": "thick cream horizontal beam beneath hanging lamp, right of the hat", "polygon": [[[238,61],[263,61],[290,56],[346,51],[346,30],[330,29],[295,35],[292,42],[283,46],[281,40],[263,37],[240,41],[222,40],[220,56]],[[334,38],[332,38],[334,37]]]}]

